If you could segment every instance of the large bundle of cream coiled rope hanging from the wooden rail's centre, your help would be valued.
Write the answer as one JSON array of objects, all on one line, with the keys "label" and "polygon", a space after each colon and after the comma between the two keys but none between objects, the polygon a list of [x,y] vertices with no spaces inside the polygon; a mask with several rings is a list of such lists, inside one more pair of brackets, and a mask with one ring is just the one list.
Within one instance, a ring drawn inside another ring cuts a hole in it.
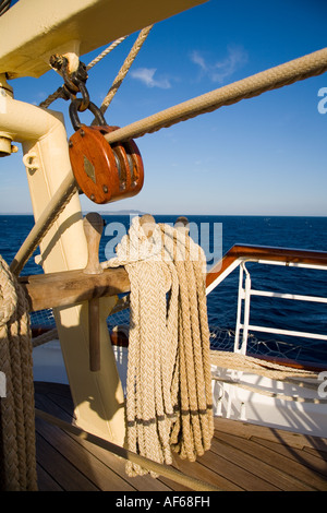
[{"label": "large bundle of cream coiled rope hanging from the wooden rail's centre", "polygon": [[[131,282],[129,450],[165,464],[171,450],[195,461],[214,433],[204,253],[168,225],[147,238],[134,217],[102,265],[125,265]],[[126,472],[148,470],[129,462]]]}]

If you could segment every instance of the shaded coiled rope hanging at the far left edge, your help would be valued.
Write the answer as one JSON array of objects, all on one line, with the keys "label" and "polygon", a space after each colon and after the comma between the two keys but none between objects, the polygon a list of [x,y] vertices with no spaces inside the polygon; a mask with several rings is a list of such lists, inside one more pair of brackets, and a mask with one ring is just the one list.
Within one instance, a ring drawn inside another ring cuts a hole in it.
[{"label": "shaded coiled rope hanging at the far left edge", "polygon": [[0,399],[0,488],[36,490],[33,361],[28,302],[0,258],[0,370],[5,397]]}]

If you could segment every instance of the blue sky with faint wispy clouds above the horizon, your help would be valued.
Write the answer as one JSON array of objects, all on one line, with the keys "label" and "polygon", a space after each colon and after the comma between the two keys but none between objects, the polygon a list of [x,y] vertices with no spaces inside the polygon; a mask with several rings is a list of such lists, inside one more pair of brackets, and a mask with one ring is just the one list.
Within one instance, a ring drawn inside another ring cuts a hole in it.
[{"label": "blue sky with faint wispy clouds above the horizon", "polygon": [[[324,48],[326,20],[325,0],[210,0],[160,22],[107,110],[107,122],[124,127]],[[135,38],[89,71],[95,104],[101,104]],[[81,60],[88,63],[101,49]],[[51,70],[37,80],[11,81],[16,99],[36,105],[61,83]],[[322,87],[326,73],[135,140],[145,166],[141,193],[104,206],[82,198],[83,210],[327,215]],[[68,105],[57,100],[51,108],[66,112]],[[65,123],[70,135],[68,117]],[[0,160],[0,213],[32,212],[22,152]]]}]

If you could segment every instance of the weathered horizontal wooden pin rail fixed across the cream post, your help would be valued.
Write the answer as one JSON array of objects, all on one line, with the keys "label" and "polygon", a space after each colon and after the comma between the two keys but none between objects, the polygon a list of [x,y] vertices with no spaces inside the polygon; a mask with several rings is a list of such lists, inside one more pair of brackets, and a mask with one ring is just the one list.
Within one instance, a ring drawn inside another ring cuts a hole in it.
[{"label": "weathered horizontal wooden pin rail fixed across the cream post", "polygon": [[19,282],[32,312],[130,291],[124,267],[107,269],[102,274],[85,274],[84,270],[76,270],[21,276]]}]

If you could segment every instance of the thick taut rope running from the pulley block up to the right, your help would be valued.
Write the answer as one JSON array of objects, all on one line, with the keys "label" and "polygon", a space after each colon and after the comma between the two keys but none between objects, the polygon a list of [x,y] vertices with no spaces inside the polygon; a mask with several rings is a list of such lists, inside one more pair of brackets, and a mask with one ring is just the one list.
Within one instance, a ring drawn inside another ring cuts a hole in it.
[{"label": "thick taut rope running from the pulley block up to the right", "polygon": [[105,139],[111,144],[118,141],[123,142],[129,139],[141,138],[146,133],[169,128],[180,121],[211,112],[222,106],[235,104],[241,99],[253,98],[267,91],[290,85],[326,71],[327,48],[324,48],[161,110],[148,118],[106,134]]}]

